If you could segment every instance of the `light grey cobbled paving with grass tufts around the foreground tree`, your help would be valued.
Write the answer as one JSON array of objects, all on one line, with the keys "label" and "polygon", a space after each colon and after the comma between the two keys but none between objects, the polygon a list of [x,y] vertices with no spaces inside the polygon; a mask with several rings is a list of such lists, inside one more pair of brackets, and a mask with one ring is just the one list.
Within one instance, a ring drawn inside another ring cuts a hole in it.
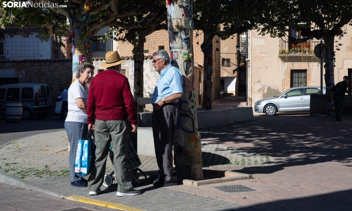
[{"label": "light grey cobbled paving with grass tufts around the foreground tree", "polygon": [[[206,129],[204,129],[206,130]],[[202,133],[202,132],[200,132]],[[65,130],[38,134],[13,141],[0,148],[0,169],[20,178],[69,176],[67,151],[69,146]],[[274,158],[261,154],[247,154],[219,144],[202,142],[203,167],[227,165],[264,166],[272,165]],[[40,159],[38,159],[38,157]],[[158,170],[154,157],[140,156],[142,171]],[[113,171],[108,157],[106,174]]]}]

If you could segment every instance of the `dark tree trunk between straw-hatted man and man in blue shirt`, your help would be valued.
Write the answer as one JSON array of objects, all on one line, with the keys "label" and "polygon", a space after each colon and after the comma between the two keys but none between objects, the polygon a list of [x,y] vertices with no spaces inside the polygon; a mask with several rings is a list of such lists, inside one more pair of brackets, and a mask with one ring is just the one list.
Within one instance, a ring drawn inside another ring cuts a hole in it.
[{"label": "dark tree trunk between straw-hatted man and man in blue shirt", "polygon": [[[143,62],[144,62],[144,42],[145,37],[138,31],[135,32],[133,39],[133,59],[135,62],[133,97],[143,97]],[[137,112],[143,112],[143,106],[138,106]]]}]

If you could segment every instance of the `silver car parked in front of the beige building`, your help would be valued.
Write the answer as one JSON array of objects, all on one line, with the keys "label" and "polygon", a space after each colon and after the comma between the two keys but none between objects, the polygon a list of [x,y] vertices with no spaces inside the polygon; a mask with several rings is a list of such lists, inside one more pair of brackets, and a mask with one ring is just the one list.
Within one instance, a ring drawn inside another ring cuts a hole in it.
[{"label": "silver car parked in front of the beige building", "polygon": [[254,111],[268,116],[274,116],[277,112],[309,111],[311,94],[320,94],[320,87],[293,87],[277,96],[257,101],[254,104]]}]

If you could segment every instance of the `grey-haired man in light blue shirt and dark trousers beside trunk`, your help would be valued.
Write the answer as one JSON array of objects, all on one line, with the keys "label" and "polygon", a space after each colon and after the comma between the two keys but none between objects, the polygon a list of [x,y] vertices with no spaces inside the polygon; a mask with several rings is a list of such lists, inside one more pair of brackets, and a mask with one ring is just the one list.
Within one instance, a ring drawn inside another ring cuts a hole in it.
[{"label": "grey-haired man in light blue shirt and dark trousers beside trunk", "polygon": [[153,54],[152,65],[160,74],[151,103],[155,155],[161,172],[153,185],[172,186],[178,184],[173,168],[173,145],[179,118],[177,102],[183,95],[182,74],[170,64],[166,50],[159,50]]}]

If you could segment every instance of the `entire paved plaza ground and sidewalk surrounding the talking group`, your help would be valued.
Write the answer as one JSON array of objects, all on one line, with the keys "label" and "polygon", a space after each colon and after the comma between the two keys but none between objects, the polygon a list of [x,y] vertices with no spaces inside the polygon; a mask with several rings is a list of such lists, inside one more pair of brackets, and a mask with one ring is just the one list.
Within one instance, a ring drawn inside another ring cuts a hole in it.
[{"label": "entire paved plaza ground and sidewalk surrounding the talking group", "polygon": [[[94,197],[88,196],[87,188],[71,187],[65,131],[3,146],[0,167],[7,172],[4,175],[11,174],[9,180],[22,177],[18,180],[24,185],[47,194],[88,197],[130,210],[352,210],[351,126],[329,117],[279,115],[255,116],[251,124],[201,129],[204,168],[254,178],[199,187],[154,188],[144,183],[136,186],[142,194],[135,197],[116,197],[116,181]],[[143,171],[157,170],[154,158],[140,158]],[[106,174],[111,171],[108,160]],[[22,185],[18,180],[14,183]],[[254,191],[229,193],[215,188],[229,185]]]}]

